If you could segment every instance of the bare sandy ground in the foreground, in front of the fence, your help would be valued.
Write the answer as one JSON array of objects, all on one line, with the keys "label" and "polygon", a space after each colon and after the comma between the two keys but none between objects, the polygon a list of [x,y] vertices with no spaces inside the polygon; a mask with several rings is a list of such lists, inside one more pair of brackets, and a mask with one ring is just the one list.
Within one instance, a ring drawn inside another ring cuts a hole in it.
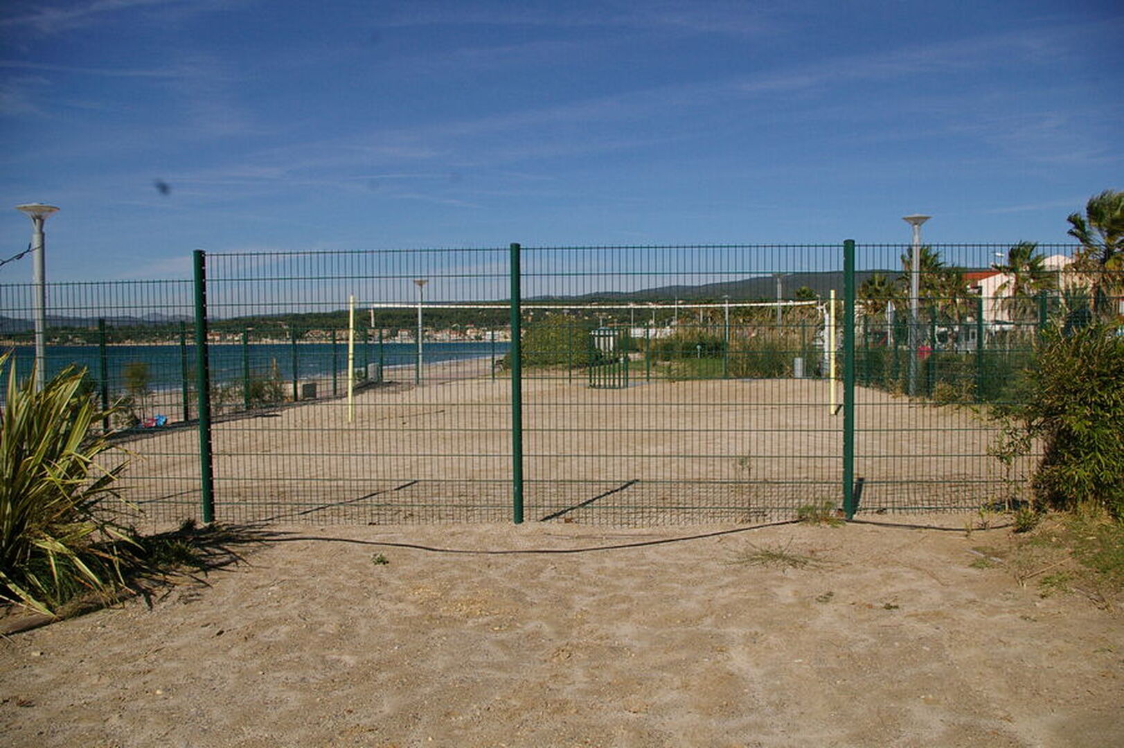
[{"label": "bare sandy ground in the foreground, in front of the fence", "polygon": [[[289,534],[206,585],[0,642],[0,735],[13,747],[1122,745],[1120,614],[972,568],[971,549],[1007,531],[944,521],[960,529],[785,524],[642,547],[628,546],[700,530],[278,528]],[[560,552],[574,549],[595,550]],[[762,567],[746,561],[755,550],[812,562]]]}]

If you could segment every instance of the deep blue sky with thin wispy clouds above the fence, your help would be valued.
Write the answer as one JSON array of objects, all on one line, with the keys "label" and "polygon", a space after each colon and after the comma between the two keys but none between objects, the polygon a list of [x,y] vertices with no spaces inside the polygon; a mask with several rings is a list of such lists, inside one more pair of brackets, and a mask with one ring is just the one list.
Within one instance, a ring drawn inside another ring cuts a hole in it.
[{"label": "deep blue sky with thin wispy clouds above the fence", "polygon": [[1122,31],[1087,0],[8,0],[0,259],[37,200],[52,280],[184,277],[194,249],[896,243],[918,211],[933,242],[1067,241],[1124,187]]}]

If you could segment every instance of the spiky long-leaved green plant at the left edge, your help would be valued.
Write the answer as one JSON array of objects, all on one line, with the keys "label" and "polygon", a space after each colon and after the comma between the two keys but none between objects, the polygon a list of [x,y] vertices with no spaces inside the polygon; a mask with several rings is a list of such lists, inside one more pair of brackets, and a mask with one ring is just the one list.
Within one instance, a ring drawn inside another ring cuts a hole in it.
[{"label": "spiky long-leaved green plant at the left edge", "polygon": [[35,391],[34,373],[16,378],[7,354],[8,391],[0,422],[0,596],[39,611],[57,609],[74,594],[105,592],[121,580],[118,543],[124,530],[107,519],[102,502],[116,496],[124,463],[96,462],[109,449],[90,426],[103,417],[83,373],[73,367]]}]

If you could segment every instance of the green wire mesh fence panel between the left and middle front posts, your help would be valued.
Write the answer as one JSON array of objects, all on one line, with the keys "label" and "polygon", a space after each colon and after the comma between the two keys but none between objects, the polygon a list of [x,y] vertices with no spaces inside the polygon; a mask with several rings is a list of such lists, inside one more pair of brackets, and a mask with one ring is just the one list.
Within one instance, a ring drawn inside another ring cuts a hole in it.
[{"label": "green wire mesh fence panel between the left and middle front posts", "polygon": [[506,260],[208,255],[216,515],[508,519]]}]

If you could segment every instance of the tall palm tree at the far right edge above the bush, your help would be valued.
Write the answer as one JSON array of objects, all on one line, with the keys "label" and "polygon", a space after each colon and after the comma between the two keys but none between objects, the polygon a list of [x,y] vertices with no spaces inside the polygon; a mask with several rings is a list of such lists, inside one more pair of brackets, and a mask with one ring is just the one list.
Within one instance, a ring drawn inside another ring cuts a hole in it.
[{"label": "tall palm tree at the far right edge above the bush", "polygon": [[1069,217],[1069,235],[1081,243],[1073,267],[1091,274],[1093,307],[1112,314],[1112,297],[1124,286],[1124,191],[1105,190]]}]

